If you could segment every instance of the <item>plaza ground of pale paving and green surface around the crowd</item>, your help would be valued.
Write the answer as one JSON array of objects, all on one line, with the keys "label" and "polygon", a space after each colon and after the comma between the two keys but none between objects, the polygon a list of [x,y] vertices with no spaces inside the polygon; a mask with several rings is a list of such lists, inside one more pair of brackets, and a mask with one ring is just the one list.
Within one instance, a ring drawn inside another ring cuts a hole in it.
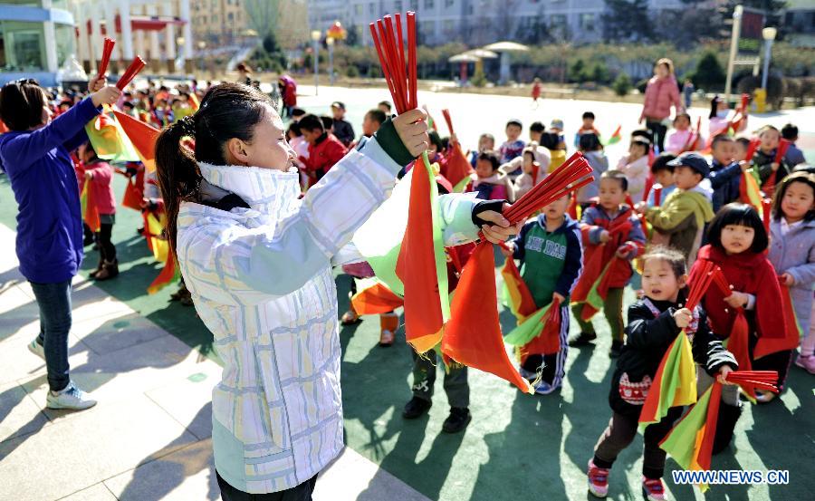
[{"label": "plaza ground of pale paving and green surface around the crowd", "polygon": [[[364,111],[388,99],[384,90],[303,87],[309,111],[328,112],[345,101],[360,131]],[[531,101],[503,96],[421,93],[420,101],[442,119],[451,110],[465,146],[478,134],[502,138],[503,124],[520,118],[549,124],[566,121],[567,138],[583,111],[594,111],[599,130],[618,123],[624,137],[635,128],[639,107],[590,101]],[[705,110],[692,110],[692,115]],[[786,121],[802,130],[801,146],[815,160],[812,108],[753,117],[751,125]],[[705,113],[706,116],[706,113]],[[694,120],[695,121],[695,120]],[[443,135],[446,127],[439,125]],[[625,142],[625,141],[624,141]],[[625,145],[609,149],[616,162]],[[115,178],[120,197],[124,179]],[[0,177],[0,500],[149,501],[215,500],[212,463],[211,387],[220,368],[212,337],[193,308],[168,303],[174,287],[148,295],[158,275],[144,239],[136,234],[140,215],[120,208],[113,240],[120,253],[120,276],[93,284],[87,274],[97,257],[89,255],[74,285],[71,335],[72,377],[100,404],[80,413],[44,409],[43,361],[25,348],[38,329],[30,287],[16,267],[16,204],[7,178]],[[496,263],[496,265],[498,265]],[[348,305],[348,278],[338,276],[340,312]],[[627,303],[633,293],[627,291]],[[502,313],[502,323],[513,317]],[[340,331],[346,442],[349,448],[318,481],[315,499],[326,500],[517,500],[590,499],[585,467],[610,409],[607,395],[613,369],[609,331],[596,319],[594,349],[572,349],[560,393],[524,395],[506,382],[470,372],[474,418],[465,433],[441,432],[448,407],[441,387],[429,415],[401,418],[409,399],[411,357],[398,332],[393,347],[380,348],[379,321],[364,317]],[[789,390],[761,407],[747,407],[734,447],[714,458],[717,469],[786,469],[788,486],[714,486],[713,500],[806,499],[815,491],[815,394],[812,376],[791,368]],[[639,499],[642,440],[620,456],[610,477],[611,499]],[[809,458],[809,459],[807,459]],[[808,466],[809,465],[809,466]],[[668,470],[676,468],[668,460]],[[695,487],[666,486],[673,498],[701,499]]]}]

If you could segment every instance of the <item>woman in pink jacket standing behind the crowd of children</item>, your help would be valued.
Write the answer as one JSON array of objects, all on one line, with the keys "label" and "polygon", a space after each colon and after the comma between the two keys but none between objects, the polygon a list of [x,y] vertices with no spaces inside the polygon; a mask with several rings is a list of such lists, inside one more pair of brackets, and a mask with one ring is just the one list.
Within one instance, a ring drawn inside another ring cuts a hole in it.
[{"label": "woman in pink jacket standing behind the crowd of children", "polygon": [[659,153],[665,151],[665,120],[671,116],[672,105],[676,108],[676,113],[684,111],[679,99],[679,84],[674,76],[674,62],[662,58],[654,66],[654,76],[648,81],[642,113],[639,115],[639,123],[645,120]]}]

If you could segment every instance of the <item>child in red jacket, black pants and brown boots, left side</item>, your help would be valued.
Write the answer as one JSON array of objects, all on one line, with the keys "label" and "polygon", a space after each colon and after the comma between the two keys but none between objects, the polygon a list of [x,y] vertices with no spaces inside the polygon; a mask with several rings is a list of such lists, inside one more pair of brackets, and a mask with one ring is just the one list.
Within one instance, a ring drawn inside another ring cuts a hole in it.
[{"label": "child in red jacket, black pants and brown boots, left side", "polygon": [[96,241],[99,244],[99,265],[91,272],[95,280],[107,280],[119,275],[119,261],[116,259],[116,246],[110,241],[113,224],[116,222],[116,198],[113,195],[113,168],[96,155],[90,142],[79,147],[79,159],[82,161],[84,183],[88,183],[89,198],[99,213],[99,230]]}]

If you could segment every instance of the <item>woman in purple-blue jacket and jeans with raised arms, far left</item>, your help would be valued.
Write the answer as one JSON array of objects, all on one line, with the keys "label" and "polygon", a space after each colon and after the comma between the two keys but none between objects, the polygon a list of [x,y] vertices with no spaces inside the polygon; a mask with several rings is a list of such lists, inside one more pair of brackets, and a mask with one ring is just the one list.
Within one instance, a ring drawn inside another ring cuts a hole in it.
[{"label": "woman in purple-blue jacket and jeans with raised arms, far left", "polygon": [[79,185],[69,155],[88,140],[85,124],[120,90],[105,79],[88,84],[91,95],[51,120],[48,97],[33,79],[0,89],[0,119],[10,130],[0,136],[0,169],[17,201],[17,258],[40,309],[40,334],[28,349],[48,370],[50,409],[88,409],[96,401],[68,375],[71,280],[82,265]]}]

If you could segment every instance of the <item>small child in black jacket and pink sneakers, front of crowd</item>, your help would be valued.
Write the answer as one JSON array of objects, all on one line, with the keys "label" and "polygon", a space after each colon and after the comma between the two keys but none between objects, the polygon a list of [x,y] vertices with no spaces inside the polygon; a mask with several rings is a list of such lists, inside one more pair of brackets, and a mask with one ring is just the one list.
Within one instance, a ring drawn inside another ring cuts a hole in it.
[{"label": "small child in black jacket and pink sneakers, front of crowd", "polygon": [[[694,361],[711,377],[727,384],[727,373],[738,368],[733,355],[708,327],[705,311],[699,306],[693,312],[683,307],[687,298],[685,256],[657,246],[642,256],[642,263],[645,296],[628,308],[626,345],[611,377],[609,405],[613,413],[589,461],[589,492],[597,497],[608,495],[611,466],[637,435],[651,381],[680,332],[684,330],[692,337]],[[649,500],[665,499],[662,477],[666,452],[659,448],[659,442],[681,414],[681,407],[671,408],[665,418],[643,432],[642,490]]]}]

